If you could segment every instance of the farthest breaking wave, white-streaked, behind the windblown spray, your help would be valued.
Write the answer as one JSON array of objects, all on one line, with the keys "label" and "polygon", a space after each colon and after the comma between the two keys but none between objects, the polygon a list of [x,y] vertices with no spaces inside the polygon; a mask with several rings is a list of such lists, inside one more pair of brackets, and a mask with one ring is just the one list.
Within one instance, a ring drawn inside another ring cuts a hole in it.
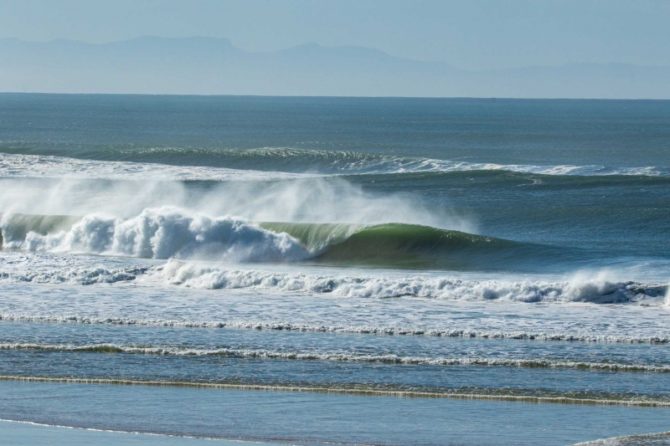
[{"label": "farthest breaking wave, white-streaked, behind the windblown spray", "polygon": [[[135,161],[103,161],[54,155],[0,153],[0,177],[93,179],[146,179],[150,177],[178,181],[259,181],[322,175],[476,171],[551,176],[670,176],[670,170],[657,166],[499,164],[282,147],[247,150],[158,147],[148,148],[139,153],[134,152],[134,154],[135,156],[131,159]],[[124,155],[124,158],[128,159],[127,154]],[[202,161],[198,162],[199,159]],[[211,167],[212,165],[219,167]]]}]

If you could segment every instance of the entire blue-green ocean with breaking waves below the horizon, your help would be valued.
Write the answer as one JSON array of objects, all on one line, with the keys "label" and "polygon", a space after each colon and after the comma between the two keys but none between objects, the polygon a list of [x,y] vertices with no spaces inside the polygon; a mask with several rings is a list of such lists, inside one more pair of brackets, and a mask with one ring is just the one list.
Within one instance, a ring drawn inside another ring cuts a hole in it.
[{"label": "entire blue-green ocean with breaking waves below the horizon", "polygon": [[670,442],[670,101],[0,94],[0,229],[7,422]]}]

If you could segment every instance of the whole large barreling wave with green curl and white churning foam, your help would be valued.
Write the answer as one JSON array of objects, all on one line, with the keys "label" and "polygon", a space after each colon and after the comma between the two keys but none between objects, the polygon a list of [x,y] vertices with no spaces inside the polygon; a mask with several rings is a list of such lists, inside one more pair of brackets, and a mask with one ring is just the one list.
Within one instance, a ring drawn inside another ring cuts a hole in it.
[{"label": "whole large barreling wave with green curl and white churning foam", "polygon": [[421,225],[256,224],[170,207],[126,219],[7,214],[0,227],[4,248],[153,259],[499,270],[570,255],[565,249]]}]

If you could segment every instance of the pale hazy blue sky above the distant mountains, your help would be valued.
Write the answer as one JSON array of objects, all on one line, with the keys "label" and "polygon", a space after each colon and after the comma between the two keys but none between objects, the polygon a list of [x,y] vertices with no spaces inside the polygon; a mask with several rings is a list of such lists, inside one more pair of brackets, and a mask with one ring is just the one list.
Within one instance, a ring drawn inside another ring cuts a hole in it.
[{"label": "pale hazy blue sky above the distant mountains", "polygon": [[462,68],[670,65],[670,0],[0,0],[0,38],[359,45]]}]

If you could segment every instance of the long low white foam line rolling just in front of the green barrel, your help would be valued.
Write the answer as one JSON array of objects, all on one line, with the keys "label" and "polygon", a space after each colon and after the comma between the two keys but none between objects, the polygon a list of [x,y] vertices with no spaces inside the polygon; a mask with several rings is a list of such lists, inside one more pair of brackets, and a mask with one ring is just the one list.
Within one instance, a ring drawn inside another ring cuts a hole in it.
[{"label": "long low white foam line rolling just in front of the green barrel", "polygon": [[310,275],[263,270],[225,269],[195,262],[170,260],[158,268],[173,285],[205,289],[275,290],[308,294],[328,294],[348,298],[419,297],[451,300],[509,300],[516,302],[628,303],[659,299],[663,285],[610,282],[571,278],[568,281],[464,280],[407,275],[365,277],[351,275]]}]

